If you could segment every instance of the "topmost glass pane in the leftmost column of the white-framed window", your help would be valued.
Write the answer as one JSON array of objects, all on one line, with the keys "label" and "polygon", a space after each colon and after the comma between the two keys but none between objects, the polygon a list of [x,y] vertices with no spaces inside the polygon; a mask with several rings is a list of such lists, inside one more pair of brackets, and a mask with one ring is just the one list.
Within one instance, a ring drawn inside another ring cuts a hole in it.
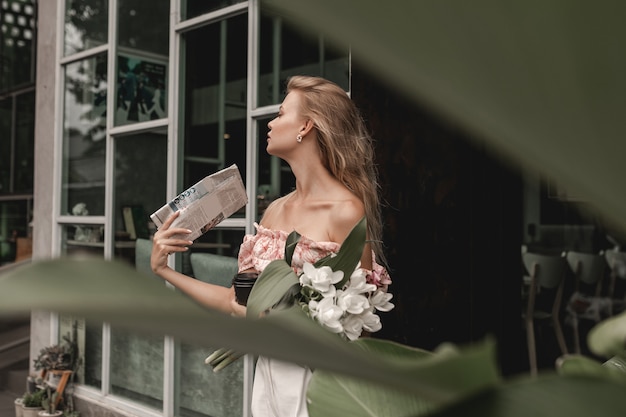
[{"label": "topmost glass pane in the leftmost column of the white-framed window", "polygon": [[107,42],[108,0],[65,2],[65,55],[72,55]]}]

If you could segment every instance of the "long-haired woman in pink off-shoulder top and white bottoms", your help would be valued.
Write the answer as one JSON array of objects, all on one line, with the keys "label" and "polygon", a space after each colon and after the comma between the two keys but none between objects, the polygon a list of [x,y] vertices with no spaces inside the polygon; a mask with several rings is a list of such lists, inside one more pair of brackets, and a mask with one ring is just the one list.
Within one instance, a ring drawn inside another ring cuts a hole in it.
[{"label": "long-haired woman in pink off-shoulder top and white bottoms", "polygon": [[[294,76],[278,116],[268,123],[267,152],[285,160],[296,178],[293,192],[272,202],[257,233],[244,237],[240,272],[262,272],[282,259],[288,234],[302,236],[292,266],[336,253],[352,228],[365,216],[368,242],[361,267],[385,276],[382,258],[378,181],[371,138],[354,103],[336,84],[319,77]],[[167,256],[184,252],[191,241],[172,235],[174,214],[154,235],[152,270],[195,300],[229,314],[245,315],[233,288],[219,287],[180,274]],[[252,393],[252,415],[307,416],[305,393],[311,371],[298,365],[259,358]]]}]

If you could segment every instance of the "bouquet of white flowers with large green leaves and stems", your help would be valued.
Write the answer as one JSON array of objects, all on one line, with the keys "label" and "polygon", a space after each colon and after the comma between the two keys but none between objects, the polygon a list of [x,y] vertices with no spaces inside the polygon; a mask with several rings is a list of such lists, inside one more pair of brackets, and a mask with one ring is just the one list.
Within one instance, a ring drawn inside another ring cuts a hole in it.
[{"label": "bouquet of white flowers with large green leaves and stems", "polygon": [[[377,311],[394,308],[391,283],[386,271],[369,271],[360,267],[366,236],[363,218],[350,232],[337,254],[314,264],[305,263],[298,276],[291,259],[300,235],[292,232],[285,244],[285,258],[270,262],[257,278],[247,304],[247,316],[259,317],[272,310],[299,307],[309,317],[347,340],[356,340],[365,330],[373,333],[382,328]],[[205,363],[218,371],[240,357],[236,352],[220,349]]]}]

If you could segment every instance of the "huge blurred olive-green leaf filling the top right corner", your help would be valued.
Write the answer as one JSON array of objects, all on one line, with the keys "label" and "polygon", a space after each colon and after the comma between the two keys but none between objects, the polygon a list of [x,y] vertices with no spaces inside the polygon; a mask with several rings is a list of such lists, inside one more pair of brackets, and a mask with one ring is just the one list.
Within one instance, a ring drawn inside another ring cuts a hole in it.
[{"label": "huge blurred olive-green leaf filling the top right corner", "polygon": [[626,230],[626,2],[261,0]]}]

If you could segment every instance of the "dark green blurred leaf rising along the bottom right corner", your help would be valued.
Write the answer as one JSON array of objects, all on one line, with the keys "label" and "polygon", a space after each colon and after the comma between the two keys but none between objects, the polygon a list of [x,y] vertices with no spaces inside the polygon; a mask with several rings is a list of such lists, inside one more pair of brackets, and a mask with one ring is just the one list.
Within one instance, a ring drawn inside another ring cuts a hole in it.
[{"label": "dark green blurred leaf rising along the bottom right corner", "polygon": [[[428,417],[623,417],[624,386],[597,377],[554,373],[511,380]],[[410,414],[405,417],[411,416]],[[416,414],[411,417],[420,416]]]}]

